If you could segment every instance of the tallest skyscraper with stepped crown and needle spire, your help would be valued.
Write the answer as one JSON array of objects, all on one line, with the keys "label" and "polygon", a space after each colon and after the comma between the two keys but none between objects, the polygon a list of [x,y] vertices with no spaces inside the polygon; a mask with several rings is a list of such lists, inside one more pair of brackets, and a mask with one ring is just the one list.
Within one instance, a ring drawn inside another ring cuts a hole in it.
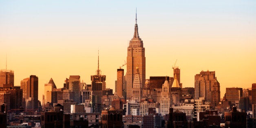
[{"label": "tallest skyscraper with stepped crown and needle spire", "polygon": [[136,75],[136,66],[139,68],[139,77],[144,87],[146,81],[146,57],[145,48],[143,48],[143,41],[139,38],[138,24],[137,24],[137,11],[135,18],[135,28],[132,40],[130,40],[129,46],[127,48],[127,72],[126,72],[126,97],[131,99],[132,97],[132,87],[134,77]]}]

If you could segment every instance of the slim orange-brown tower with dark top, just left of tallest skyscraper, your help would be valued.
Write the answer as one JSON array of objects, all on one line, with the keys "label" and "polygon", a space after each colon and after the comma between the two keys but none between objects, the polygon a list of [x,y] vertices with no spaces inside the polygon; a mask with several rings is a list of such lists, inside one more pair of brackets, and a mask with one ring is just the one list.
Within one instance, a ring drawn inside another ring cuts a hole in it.
[{"label": "slim orange-brown tower with dark top, just left of tallest skyscraper", "polygon": [[124,69],[117,69],[117,86],[115,92],[117,92],[118,97],[123,96],[123,84],[124,84]]}]

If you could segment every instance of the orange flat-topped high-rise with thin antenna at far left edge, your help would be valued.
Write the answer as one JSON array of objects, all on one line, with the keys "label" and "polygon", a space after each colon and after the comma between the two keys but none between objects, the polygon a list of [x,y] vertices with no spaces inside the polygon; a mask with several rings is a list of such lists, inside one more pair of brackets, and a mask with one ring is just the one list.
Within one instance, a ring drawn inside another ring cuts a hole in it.
[{"label": "orange flat-topped high-rise with thin antenna at far left edge", "polygon": [[0,70],[0,87],[13,87],[14,73],[12,70]]}]

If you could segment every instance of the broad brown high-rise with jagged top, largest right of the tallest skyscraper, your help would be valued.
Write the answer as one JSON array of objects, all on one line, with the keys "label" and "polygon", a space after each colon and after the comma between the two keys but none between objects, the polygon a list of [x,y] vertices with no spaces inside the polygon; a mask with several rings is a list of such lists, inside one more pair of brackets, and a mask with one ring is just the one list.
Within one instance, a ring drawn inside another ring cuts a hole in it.
[{"label": "broad brown high-rise with jagged top, largest right of the tallest skyscraper", "polygon": [[220,102],[220,83],[215,77],[215,71],[201,71],[195,75],[195,99],[205,97],[206,102],[210,102],[215,107]]}]

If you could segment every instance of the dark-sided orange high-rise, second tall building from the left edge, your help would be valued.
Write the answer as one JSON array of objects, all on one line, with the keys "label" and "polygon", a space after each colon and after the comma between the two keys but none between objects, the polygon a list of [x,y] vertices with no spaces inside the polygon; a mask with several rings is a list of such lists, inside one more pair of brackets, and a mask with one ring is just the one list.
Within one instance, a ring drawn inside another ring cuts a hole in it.
[{"label": "dark-sided orange high-rise, second tall building from the left edge", "polygon": [[20,88],[23,90],[23,102],[26,109],[38,109],[38,77],[30,75],[29,78],[20,82]]}]

